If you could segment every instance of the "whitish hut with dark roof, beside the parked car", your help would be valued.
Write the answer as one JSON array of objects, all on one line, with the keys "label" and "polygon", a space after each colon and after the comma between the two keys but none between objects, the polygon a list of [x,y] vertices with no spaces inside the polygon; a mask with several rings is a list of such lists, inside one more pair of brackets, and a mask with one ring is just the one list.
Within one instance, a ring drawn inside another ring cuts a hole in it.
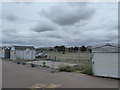
[{"label": "whitish hut with dark roof, beside the parked car", "polygon": [[34,60],[35,48],[33,46],[13,46],[10,50],[11,60]]}]

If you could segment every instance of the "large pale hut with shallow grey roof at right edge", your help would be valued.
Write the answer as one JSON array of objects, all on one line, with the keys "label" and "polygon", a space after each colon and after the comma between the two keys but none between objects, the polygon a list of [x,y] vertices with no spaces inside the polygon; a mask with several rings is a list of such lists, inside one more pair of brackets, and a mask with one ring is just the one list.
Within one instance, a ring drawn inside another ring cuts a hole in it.
[{"label": "large pale hut with shallow grey roof at right edge", "polygon": [[118,45],[104,44],[94,47],[92,69],[95,76],[104,76],[112,78],[120,78],[118,69],[120,70],[118,56],[120,55]]}]

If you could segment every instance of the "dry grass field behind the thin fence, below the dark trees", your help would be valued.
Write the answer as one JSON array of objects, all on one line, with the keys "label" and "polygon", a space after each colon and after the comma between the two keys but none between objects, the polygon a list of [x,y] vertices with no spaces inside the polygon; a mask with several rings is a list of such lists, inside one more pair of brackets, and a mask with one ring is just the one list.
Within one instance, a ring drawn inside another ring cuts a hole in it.
[{"label": "dry grass field behind the thin fence, below the dark trees", "polygon": [[47,59],[60,60],[60,61],[72,61],[72,62],[81,62],[81,61],[91,61],[92,53],[90,52],[46,52],[48,57]]}]

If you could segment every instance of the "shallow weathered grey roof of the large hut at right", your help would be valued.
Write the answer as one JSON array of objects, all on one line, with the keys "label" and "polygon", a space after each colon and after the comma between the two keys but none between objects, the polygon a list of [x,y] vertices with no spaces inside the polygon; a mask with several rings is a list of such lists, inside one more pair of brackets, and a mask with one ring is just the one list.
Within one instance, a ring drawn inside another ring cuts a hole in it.
[{"label": "shallow weathered grey roof of the large hut at right", "polygon": [[115,44],[104,44],[104,45],[98,45],[96,47],[92,48],[93,52],[104,52],[104,53],[117,53],[120,52],[120,46]]}]

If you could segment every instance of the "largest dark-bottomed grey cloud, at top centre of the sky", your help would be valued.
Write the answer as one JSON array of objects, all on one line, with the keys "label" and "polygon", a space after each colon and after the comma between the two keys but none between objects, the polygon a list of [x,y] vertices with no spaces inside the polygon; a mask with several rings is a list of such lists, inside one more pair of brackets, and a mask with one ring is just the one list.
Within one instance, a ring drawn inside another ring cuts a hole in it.
[{"label": "largest dark-bottomed grey cloud, at top centre of the sky", "polygon": [[47,17],[59,25],[72,25],[82,20],[88,20],[95,13],[86,3],[62,3],[42,10],[40,15]]}]

